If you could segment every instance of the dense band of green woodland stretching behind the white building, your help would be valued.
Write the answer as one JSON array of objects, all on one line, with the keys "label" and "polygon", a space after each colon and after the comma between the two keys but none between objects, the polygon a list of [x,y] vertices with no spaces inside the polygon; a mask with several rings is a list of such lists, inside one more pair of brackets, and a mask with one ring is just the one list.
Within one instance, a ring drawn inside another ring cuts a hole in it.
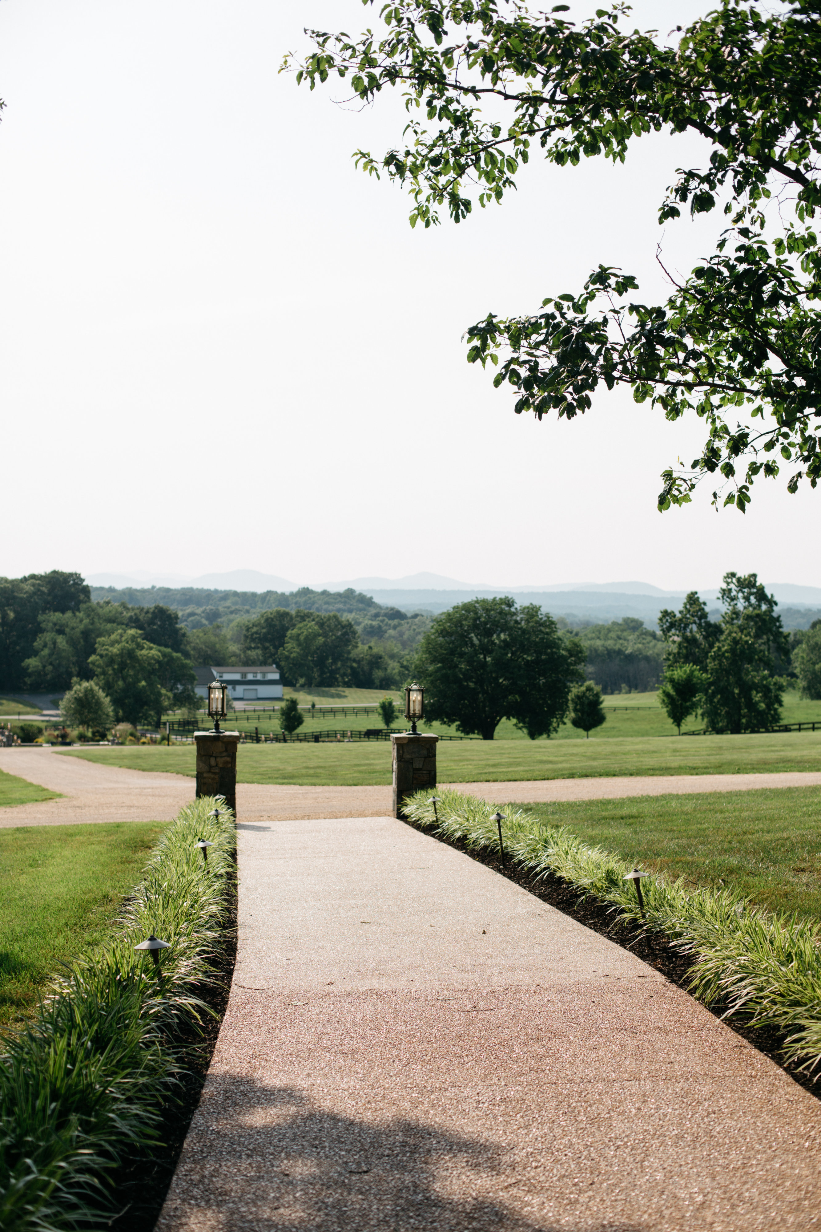
[{"label": "dense band of green woodland stretching behind the white building", "polygon": [[[271,663],[286,684],[391,689],[412,674],[435,618],[386,607],[352,589],[116,590],[90,588],[80,574],[59,570],[1,578],[0,687],[11,695],[65,690],[73,680],[92,678],[90,660],[101,639],[134,631],[164,652],[166,675],[176,664],[180,679],[181,660],[192,667]],[[707,618],[718,623],[721,611]],[[780,620],[789,649],[798,650],[821,612],[785,609]],[[564,637],[581,642],[587,676],[603,692],[644,692],[661,683],[666,642],[641,620],[593,623],[561,616],[556,625]],[[787,650],[778,670],[790,674]]]}]

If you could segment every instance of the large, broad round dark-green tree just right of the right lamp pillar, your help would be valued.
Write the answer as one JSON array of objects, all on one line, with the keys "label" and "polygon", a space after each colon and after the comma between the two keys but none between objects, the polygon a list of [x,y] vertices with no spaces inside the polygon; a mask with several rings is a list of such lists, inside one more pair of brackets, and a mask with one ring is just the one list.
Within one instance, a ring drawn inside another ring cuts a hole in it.
[{"label": "large, broad round dark-green tree just right of the right lamp pillar", "polygon": [[425,717],[492,740],[503,718],[531,739],[551,736],[582,678],[583,647],[537,604],[471,599],[437,616],[416,659]]}]

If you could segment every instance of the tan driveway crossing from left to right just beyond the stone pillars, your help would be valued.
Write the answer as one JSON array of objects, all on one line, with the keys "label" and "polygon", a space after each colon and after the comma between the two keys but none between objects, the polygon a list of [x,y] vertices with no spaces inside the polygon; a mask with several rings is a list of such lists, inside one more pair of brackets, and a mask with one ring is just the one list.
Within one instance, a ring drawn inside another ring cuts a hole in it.
[{"label": "tan driveway crossing from left to right just beyond the stone pillars", "polygon": [[[63,793],[62,800],[0,808],[0,828],[65,825],[76,822],[171,821],[193,798],[194,781],[185,775],[153,774],[98,765],[53,749],[0,749],[0,770]],[[543,779],[533,782],[460,782],[457,791],[492,803],[561,800],[611,800],[629,796],[750,791],[764,787],[812,787],[821,774],[647,775],[609,779]],[[441,787],[448,786],[441,784]],[[239,784],[238,816],[246,822],[326,817],[384,817],[390,787],[299,787]]]}]

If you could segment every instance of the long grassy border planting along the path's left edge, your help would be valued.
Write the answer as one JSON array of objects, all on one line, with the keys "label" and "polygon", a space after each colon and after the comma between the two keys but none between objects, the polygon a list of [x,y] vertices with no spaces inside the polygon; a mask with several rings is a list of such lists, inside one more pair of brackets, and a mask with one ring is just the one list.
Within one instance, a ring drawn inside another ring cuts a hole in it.
[{"label": "long grassy border planting along the path's left edge", "polygon": [[[167,1158],[169,1122],[213,1039],[213,993],[234,940],[235,829],[222,800],[186,806],[111,939],[66,965],[34,1020],[2,1040],[4,1232],[132,1222],[134,1180]],[[170,942],[158,966],[134,949],[151,934]]]}]

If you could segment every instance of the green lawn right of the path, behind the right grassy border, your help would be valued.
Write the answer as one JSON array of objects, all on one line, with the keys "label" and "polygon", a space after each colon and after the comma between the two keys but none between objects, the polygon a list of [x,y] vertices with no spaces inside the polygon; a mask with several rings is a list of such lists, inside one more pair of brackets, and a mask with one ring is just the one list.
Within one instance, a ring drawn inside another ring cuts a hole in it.
[{"label": "green lawn right of the path, behind the right grassy border", "polygon": [[821,788],[574,801],[526,807],[630,862],[764,907],[821,915]]}]

